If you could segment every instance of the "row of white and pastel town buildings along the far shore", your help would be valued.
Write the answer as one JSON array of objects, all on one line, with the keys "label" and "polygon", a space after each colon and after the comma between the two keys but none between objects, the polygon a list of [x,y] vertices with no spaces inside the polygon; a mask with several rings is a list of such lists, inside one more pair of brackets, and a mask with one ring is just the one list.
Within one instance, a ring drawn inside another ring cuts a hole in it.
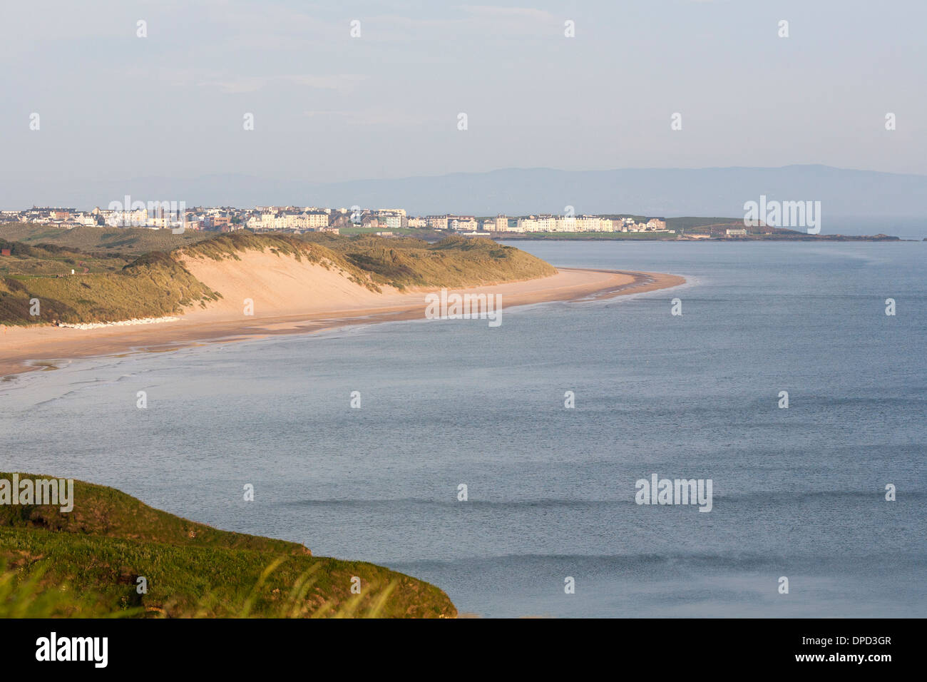
[{"label": "row of white and pastel town buildings along the far shore", "polygon": [[85,226],[148,227],[151,229],[208,230],[232,232],[332,232],[362,228],[389,237],[407,229],[430,229],[464,235],[503,235],[525,233],[649,232],[674,234],[661,217],[627,215],[553,215],[539,213],[509,216],[499,214],[413,216],[404,209],[317,208],[296,206],[194,207],[183,202],[112,202],[107,209],[91,211],[72,208],[32,207],[24,211],[0,211],[0,223],[51,225],[63,229]]}]

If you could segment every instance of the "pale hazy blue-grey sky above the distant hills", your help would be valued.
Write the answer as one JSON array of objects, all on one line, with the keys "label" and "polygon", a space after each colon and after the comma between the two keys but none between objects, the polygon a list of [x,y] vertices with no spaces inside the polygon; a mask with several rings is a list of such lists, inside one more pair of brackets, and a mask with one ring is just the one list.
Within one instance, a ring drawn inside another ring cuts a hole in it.
[{"label": "pale hazy blue-grey sky above the distant hills", "polygon": [[5,172],[50,183],[791,163],[927,174],[923,0],[31,0],[0,17]]}]

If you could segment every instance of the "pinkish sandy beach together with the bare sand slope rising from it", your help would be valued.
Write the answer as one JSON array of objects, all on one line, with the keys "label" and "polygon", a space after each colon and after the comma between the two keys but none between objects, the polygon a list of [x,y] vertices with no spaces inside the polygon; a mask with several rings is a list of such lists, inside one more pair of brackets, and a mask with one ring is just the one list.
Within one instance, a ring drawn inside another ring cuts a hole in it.
[{"label": "pinkish sandy beach together with the bare sand slope rising from it", "polygon": [[[228,342],[276,334],[307,333],[350,324],[425,317],[425,294],[434,289],[366,290],[336,272],[315,267],[307,287],[300,272],[280,267],[235,272],[228,264],[187,263],[197,278],[222,292],[222,301],[156,324],[101,328],[7,327],[0,330],[0,377],[55,367],[73,358],[163,352],[201,343]],[[273,266],[271,266],[273,265]],[[260,273],[256,275],[255,273]],[[683,277],[659,273],[560,268],[556,275],[508,282],[457,293],[501,294],[502,306],[607,298],[667,289]],[[307,296],[307,291],[311,296]],[[245,315],[243,301],[253,301]]]}]

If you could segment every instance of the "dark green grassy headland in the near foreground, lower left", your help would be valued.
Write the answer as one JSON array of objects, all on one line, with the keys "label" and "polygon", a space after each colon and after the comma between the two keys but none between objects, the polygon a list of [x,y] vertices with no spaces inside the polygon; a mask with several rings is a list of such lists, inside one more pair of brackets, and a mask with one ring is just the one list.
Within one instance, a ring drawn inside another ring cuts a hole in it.
[{"label": "dark green grassy headland in the near foreground, lower left", "polygon": [[[19,480],[44,478],[19,474]],[[0,479],[12,480],[0,472]],[[138,578],[146,579],[140,594]],[[360,578],[361,594],[351,591]],[[356,583],[356,581],[355,581]],[[298,543],[229,533],[74,482],[74,508],[0,505],[0,617],[457,614],[438,587]]]}]

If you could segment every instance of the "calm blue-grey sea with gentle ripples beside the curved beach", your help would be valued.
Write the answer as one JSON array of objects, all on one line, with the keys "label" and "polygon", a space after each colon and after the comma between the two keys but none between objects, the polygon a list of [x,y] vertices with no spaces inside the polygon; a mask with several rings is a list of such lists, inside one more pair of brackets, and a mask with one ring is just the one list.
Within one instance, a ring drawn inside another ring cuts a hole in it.
[{"label": "calm blue-grey sea with gentle ripples beside the curved beach", "polygon": [[[0,470],[383,563],[462,613],[927,616],[927,243],[514,245],[688,283],[62,363],[0,383]],[[711,479],[712,510],[636,504],[654,473]]]}]

